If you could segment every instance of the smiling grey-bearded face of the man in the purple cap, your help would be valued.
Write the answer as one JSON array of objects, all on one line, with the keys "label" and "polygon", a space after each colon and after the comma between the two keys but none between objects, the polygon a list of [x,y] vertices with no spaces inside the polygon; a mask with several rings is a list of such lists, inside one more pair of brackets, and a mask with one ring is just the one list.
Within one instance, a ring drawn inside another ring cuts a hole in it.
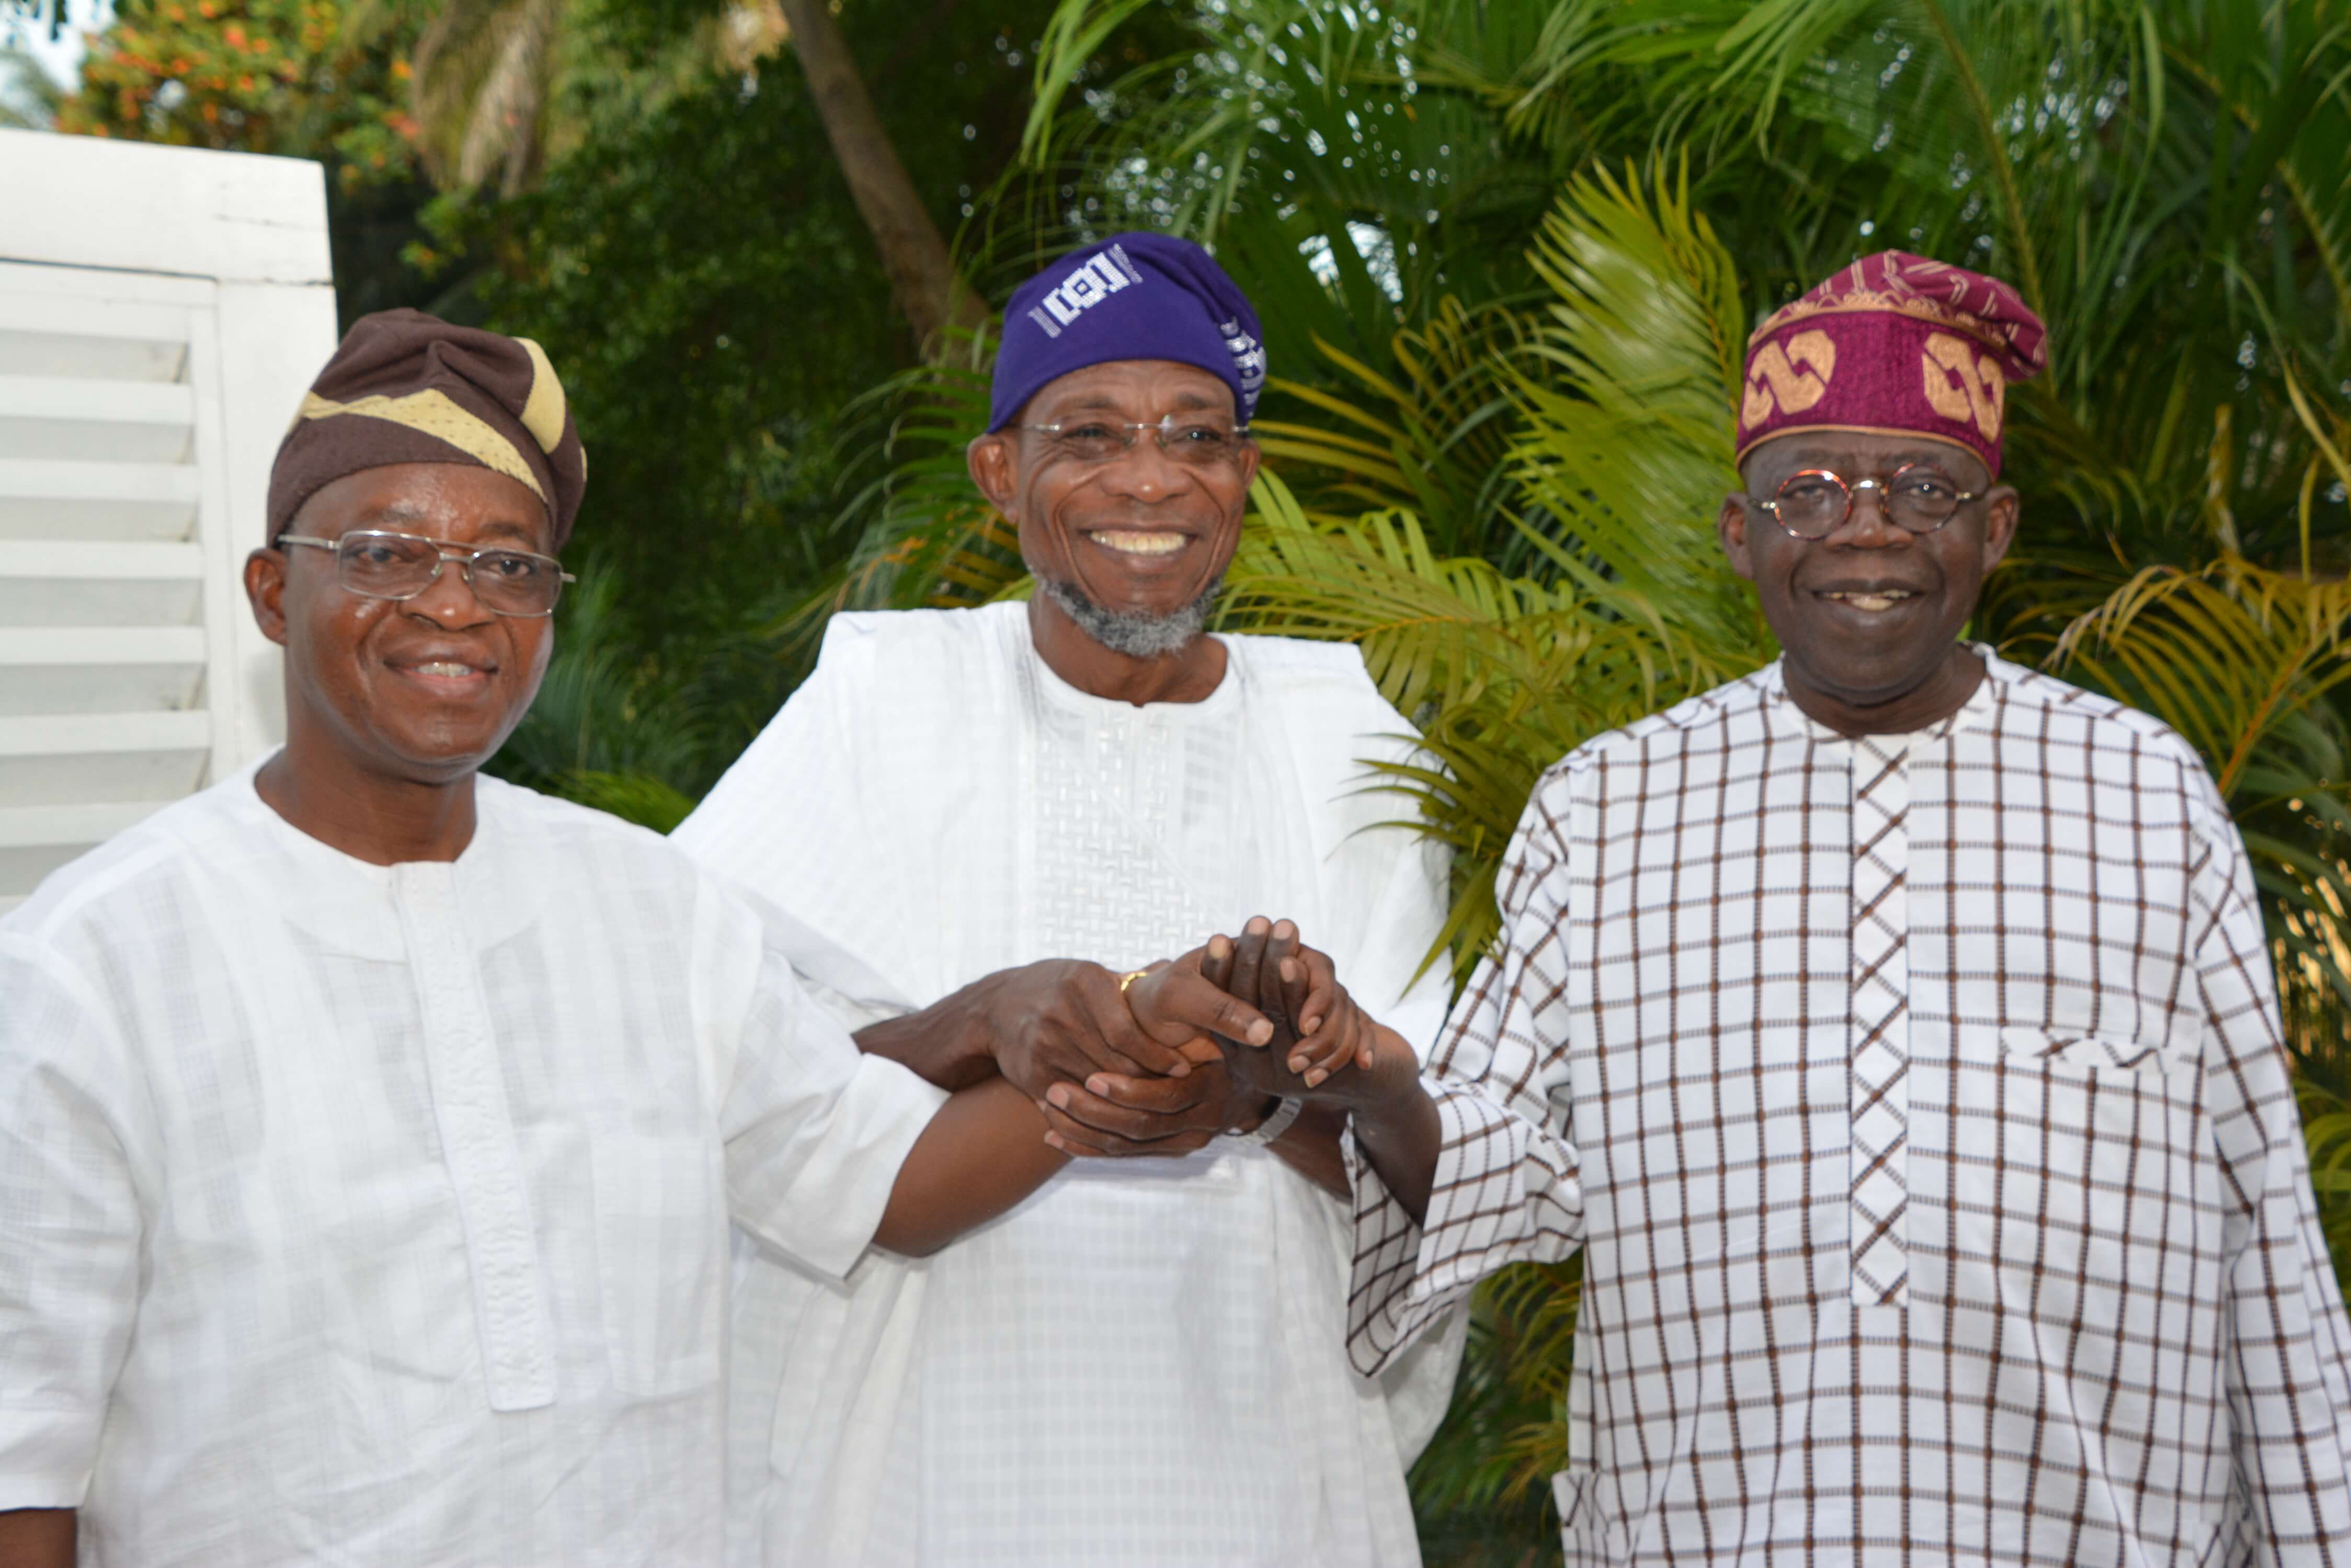
[{"label": "smiling grey-bearded face of the man in the purple cap", "polygon": [[1232,388],[1168,360],[1117,360],[1049,381],[1016,425],[971,444],[971,477],[1020,529],[1020,559],[1112,616],[1168,618],[1208,595],[1241,541],[1258,449],[1185,463],[1143,433],[1107,463],[1018,425],[1150,425],[1173,416],[1232,423]]}]

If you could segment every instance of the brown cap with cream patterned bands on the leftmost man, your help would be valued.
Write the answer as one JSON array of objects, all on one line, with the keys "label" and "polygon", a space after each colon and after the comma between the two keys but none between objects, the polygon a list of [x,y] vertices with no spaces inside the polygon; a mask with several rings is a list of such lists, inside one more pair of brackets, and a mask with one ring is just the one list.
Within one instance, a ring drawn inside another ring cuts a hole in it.
[{"label": "brown cap with cream patterned bands on the leftmost man", "polygon": [[270,468],[270,538],[327,484],[393,463],[520,480],[548,508],[557,550],[588,489],[588,454],[545,350],[423,310],[362,315],[310,383]]}]

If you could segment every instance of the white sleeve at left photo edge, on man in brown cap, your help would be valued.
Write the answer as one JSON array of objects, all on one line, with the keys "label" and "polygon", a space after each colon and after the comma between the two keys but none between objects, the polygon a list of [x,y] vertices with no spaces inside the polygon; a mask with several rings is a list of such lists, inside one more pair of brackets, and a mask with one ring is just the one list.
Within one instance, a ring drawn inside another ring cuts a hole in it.
[{"label": "white sleeve at left photo edge, on man in brown cap", "polygon": [[0,933],[0,1509],[80,1507],[139,1307],[141,1211],[96,1004]]}]

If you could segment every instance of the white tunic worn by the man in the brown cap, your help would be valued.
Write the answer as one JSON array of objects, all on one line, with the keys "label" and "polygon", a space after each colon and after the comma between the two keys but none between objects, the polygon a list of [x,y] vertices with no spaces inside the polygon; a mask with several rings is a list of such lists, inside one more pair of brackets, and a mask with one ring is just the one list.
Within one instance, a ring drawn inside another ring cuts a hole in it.
[{"label": "white tunic worn by the man in the brown cap", "polygon": [[127,1568],[722,1554],[729,1211],[818,1274],[940,1095],[663,839],[454,863],[252,771],[0,922],[0,1509]]}]

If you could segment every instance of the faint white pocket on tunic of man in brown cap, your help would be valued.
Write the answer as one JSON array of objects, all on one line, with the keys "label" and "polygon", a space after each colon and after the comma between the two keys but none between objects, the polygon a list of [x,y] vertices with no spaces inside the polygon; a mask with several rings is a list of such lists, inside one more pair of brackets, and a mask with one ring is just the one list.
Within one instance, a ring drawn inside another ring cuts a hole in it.
[{"label": "faint white pocket on tunic of man in brown cap", "polygon": [[658,1396],[717,1382],[726,1225],[715,1143],[592,1133],[590,1159],[614,1387]]}]

